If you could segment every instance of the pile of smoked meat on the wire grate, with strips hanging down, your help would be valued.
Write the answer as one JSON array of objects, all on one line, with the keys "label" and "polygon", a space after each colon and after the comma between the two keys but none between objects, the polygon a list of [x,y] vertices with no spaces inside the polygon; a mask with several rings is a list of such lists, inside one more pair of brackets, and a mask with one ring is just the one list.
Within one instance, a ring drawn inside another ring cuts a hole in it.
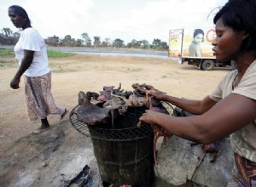
[{"label": "pile of smoked meat on the wire grate, with strips hanging down", "polygon": [[[79,92],[79,108],[76,111],[79,121],[87,125],[96,125],[112,122],[114,128],[114,118],[118,115],[125,115],[128,107],[146,106],[149,110],[169,114],[162,103],[154,97],[148,96],[148,90],[155,89],[153,86],[147,84],[134,83],[131,85],[133,91],[124,91],[113,86],[103,87],[102,92],[99,94],[95,92],[83,91]],[[138,127],[141,122],[138,122]],[[156,162],[155,146],[157,139],[164,136],[164,143],[171,138],[172,134],[166,129],[158,126],[151,125],[154,132],[154,162]]]}]

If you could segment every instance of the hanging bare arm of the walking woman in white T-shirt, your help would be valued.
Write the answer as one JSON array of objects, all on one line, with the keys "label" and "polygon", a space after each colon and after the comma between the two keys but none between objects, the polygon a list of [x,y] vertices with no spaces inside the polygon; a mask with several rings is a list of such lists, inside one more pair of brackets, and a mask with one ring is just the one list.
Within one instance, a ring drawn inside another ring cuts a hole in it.
[{"label": "hanging bare arm of the walking woman in white T-shirt", "polygon": [[20,68],[16,72],[15,77],[10,82],[10,87],[14,89],[20,88],[20,77],[23,75],[23,73],[29,68],[29,66],[32,64],[32,60],[34,58],[34,51],[30,50],[24,50],[24,57],[20,63]]}]

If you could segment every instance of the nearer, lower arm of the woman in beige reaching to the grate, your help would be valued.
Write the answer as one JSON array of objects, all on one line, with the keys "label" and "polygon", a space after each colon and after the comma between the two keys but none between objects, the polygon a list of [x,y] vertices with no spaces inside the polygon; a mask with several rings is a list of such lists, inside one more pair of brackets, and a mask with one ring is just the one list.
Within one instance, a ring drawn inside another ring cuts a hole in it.
[{"label": "nearer, lower arm of the woman in beige reaching to the grate", "polygon": [[253,122],[256,101],[230,94],[201,116],[175,117],[146,111],[140,121],[158,124],[183,139],[210,144]]}]

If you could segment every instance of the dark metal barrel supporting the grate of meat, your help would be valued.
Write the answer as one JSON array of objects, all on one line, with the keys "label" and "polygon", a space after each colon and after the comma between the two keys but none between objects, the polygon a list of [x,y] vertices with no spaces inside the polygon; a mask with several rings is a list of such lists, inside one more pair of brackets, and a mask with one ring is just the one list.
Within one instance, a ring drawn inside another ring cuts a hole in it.
[{"label": "dark metal barrel supporting the grate of meat", "polygon": [[89,127],[103,185],[151,186],[154,180],[154,133],[137,127],[143,108],[129,108],[112,124]]}]

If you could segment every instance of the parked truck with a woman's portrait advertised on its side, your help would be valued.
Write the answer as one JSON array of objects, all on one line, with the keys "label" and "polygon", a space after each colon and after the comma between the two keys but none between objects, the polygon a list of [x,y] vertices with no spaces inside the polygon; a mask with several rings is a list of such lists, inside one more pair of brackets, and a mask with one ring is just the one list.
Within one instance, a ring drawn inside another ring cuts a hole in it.
[{"label": "parked truck with a woman's portrait advertised on its side", "polygon": [[169,53],[172,58],[179,58],[179,62],[196,65],[198,69],[212,71],[214,67],[236,68],[231,61],[219,62],[212,53],[212,40],[216,37],[213,28],[185,28],[169,32]]}]

